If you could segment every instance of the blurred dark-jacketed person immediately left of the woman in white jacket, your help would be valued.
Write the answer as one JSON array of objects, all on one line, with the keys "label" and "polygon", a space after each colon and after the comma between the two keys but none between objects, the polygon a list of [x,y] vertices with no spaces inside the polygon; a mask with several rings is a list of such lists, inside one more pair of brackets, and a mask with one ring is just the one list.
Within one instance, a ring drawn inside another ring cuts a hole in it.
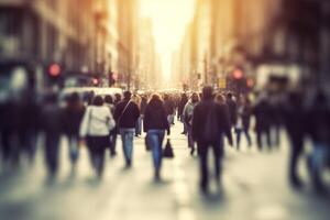
[{"label": "blurred dark-jacketed person immediately left of the woman in white jacket", "polygon": [[85,106],[77,92],[69,96],[63,111],[63,130],[68,139],[69,158],[73,170],[79,157],[79,128],[85,113]]}]

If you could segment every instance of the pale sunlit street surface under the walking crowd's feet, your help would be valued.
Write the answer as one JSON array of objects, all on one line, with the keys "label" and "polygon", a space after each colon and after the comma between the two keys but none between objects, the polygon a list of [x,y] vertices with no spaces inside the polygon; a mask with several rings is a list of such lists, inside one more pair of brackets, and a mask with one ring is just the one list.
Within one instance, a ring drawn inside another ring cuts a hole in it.
[{"label": "pale sunlit street surface under the walking crowd's feet", "polygon": [[[18,175],[2,174],[0,179],[0,219],[223,219],[223,220],[327,220],[329,197],[317,196],[308,186],[292,189],[286,179],[287,144],[275,152],[258,153],[242,147],[227,150],[223,189],[204,197],[198,189],[198,160],[189,155],[182,124],[172,130],[175,158],[164,161],[163,182],[153,182],[152,158],[144,139],[138,138],[132,169],[124,169],[121,143],[119,155],[107,154],[105,177],[95,176],[81,148],[76,174],[70,174],[66,140],[62,143],[59,176],[47,183],[42,151],[32,168],[28,164]],[[245,142],[243,142],[245,144]],[[246,144],[245,144],[246,145]],[[255,146],[253,146],[255,147]],[[108,152],[107,152],[108,153]]]}]

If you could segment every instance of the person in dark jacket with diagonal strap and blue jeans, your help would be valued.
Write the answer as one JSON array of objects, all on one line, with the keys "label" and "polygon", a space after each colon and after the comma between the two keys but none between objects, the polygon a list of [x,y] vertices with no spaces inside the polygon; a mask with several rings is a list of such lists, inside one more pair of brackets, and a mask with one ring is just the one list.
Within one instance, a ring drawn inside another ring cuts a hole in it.
[{"label": "person in dark jacket with diagonal strap and blue jeans", "polygon": [[140,117],[139,107],[131,100],[131,96],[130,91],[125,91],[124,100],[119,102],[114,110],[114,120],[121,135],[127,167],[132,166],[135,123]]}]

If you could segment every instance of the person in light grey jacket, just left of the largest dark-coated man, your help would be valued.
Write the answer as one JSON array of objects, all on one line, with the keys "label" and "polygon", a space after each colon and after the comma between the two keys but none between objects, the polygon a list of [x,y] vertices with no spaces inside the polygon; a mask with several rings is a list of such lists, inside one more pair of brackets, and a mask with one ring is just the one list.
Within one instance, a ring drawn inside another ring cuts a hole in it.
[{"label": "person in light grey jacket, just left of the largest dark-coated man", "polygon": [[197,92],[194,92],[190,97],[190,100],[186,103],[184,111],[183,111],[183,121],[186,124],[186,130],[188,133],[188,146],[190,148],[190,155],[194,155],[195,152],[195,143],[193,139],[193,117],[194,117],[194,109],[199,102],[199,96]]}]

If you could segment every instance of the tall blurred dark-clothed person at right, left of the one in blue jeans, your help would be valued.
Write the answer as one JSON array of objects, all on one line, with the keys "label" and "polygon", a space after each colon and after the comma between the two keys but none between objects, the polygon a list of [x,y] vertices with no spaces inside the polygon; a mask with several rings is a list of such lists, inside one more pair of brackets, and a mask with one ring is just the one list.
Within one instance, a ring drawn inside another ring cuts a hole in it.
[{"label": "tall blurred dark-clothed person at right, left of the one in blue jeans", "polygon": [[285,127],[290,141],[288,177],[292,186],[300,187],[301,180],[297,174],[299,157],[304,153],[304,138],[306,133],[306,112],[302,97],[298,92],[292,92],[285,107]]}]

